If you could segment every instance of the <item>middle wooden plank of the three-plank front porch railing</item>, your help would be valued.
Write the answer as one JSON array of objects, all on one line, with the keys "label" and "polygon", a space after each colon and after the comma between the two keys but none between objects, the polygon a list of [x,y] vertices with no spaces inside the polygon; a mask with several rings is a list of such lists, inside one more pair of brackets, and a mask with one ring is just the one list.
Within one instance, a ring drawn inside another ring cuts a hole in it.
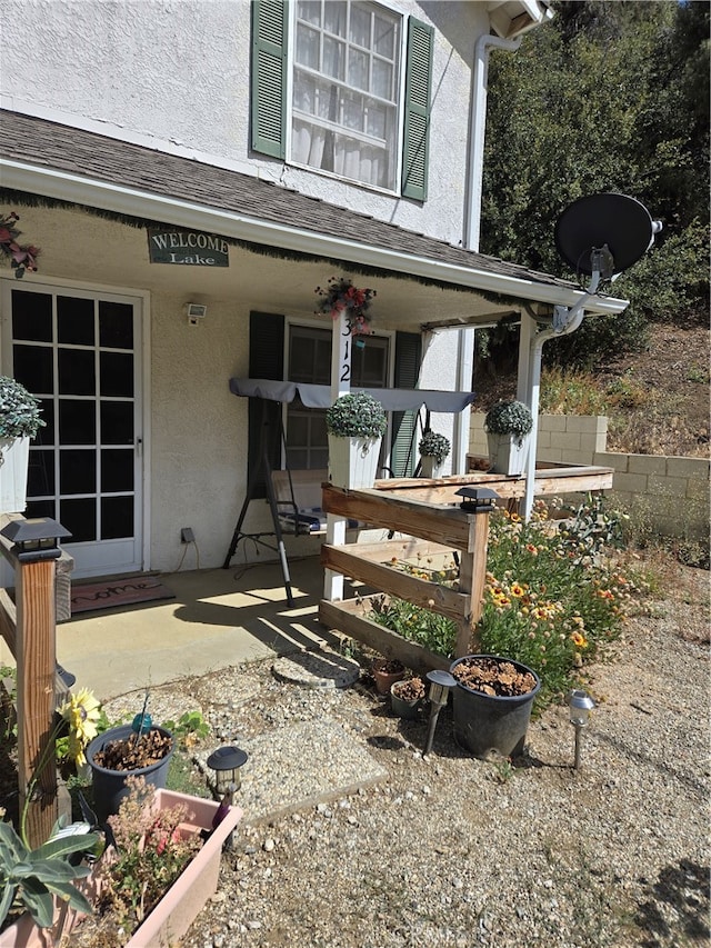
[{"label": "middle wooden plank of the three-plank front porch railing", "polygon": [[321,547],[321,565],[352,579],[360,579],[361,582],[380,589],[389,596],[395,596],[422,609],[447,616],[455,622],[469,620],[469,596],[462,596],[454,589],[438,582],[409,576],[391,566],[361,559],[358,552],[349,552],[349,550],[358,550],[358,545],[332,547],[324,543]]}]

